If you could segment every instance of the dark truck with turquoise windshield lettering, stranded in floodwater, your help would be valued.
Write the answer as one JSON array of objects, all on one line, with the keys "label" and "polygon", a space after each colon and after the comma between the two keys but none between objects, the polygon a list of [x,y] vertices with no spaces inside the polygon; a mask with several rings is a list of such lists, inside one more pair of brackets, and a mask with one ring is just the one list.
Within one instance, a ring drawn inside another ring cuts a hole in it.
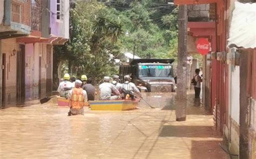
[{"label": "dark truck with turquoise windshield lettering, stranded in floodwater", "polygon": [[133,59],[119,68],[123,81],[131,75],[137,86],[145,86],[149,92],[174,92],[176,84],[173,77],[173,59]]}]

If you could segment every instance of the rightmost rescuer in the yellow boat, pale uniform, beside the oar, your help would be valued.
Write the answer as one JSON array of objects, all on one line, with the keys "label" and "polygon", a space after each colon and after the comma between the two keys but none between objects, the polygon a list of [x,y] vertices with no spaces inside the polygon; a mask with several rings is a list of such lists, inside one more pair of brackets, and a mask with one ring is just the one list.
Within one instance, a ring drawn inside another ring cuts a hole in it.
[{"label": "rightmost rescuer in the yellow boat, pale uniform, beside the oar", "polygon": [[124,83],[123,83],[123,89],[130,91],[133,95],[138,96],[139,98],[142,98],[142,93],[140,93],[137,86],[131,82],[132,78],[129,75],[124,76]]}]

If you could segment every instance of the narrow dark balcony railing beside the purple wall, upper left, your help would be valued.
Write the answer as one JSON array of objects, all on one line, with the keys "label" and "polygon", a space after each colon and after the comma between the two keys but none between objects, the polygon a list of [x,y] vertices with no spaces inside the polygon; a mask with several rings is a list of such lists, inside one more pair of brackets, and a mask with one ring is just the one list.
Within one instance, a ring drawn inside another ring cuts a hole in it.
[{"label": "narrow dark balcony railing beside the purple wall, upper left", "polygon": [[32,15],[31,15],[31,28],[35,31],[41,31],[41,20],[42,20],[42,11],[38,6],[32,6]]}]

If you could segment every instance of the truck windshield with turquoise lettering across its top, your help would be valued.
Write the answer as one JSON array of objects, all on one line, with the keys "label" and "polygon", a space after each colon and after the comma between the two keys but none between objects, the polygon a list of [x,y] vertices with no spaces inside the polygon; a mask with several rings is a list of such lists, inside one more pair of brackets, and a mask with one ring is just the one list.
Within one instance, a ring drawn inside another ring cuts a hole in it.
[{"label": "truck windshield with turquoise lettering across its top", "polygon": [[171,65],[139,65],[139,77],[172,77]]}]

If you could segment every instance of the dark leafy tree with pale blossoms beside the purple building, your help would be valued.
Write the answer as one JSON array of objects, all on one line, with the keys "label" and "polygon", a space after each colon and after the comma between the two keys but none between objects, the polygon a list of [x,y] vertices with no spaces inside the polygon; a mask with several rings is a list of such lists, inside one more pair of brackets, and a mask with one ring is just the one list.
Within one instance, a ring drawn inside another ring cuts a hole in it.
[{"label": "dark leafy tree with pale blossoms beside the purple building", "polygon": [[103,76],[116,73],[109,58],[110,54],[120,54],[116,51],[116,42],[123,34],[122,24],[116,11],[104,4],[78,4],[70,10],[70,40],[64,47],[55,49],[55,56],[65,55],[60,60],[68,62],[70,74],[77,77],[86,74],[99,81]]}]

